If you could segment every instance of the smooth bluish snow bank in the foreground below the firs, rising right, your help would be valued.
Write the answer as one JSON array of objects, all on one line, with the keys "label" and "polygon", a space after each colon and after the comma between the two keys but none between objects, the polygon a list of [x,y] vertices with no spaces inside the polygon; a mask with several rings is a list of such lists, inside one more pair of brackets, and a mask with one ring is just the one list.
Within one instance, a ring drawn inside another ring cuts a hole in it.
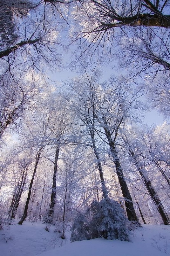
[{"label": "smooth bluish snow bank in the foreground below the firs, rising right", "polygon": [[135,231],[131,242],[104,238],[74,242],[39,256],[161,256],[170,254],[170,228],[145,226]]}]

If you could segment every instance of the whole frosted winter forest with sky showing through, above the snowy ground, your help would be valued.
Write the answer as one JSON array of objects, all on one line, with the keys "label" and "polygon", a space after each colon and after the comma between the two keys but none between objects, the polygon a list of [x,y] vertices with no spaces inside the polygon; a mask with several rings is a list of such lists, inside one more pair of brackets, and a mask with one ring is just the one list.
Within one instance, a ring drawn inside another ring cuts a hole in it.
[{"label": "whole frosted winter forest with sky showing through, above the snowy ground", "polygon": [[0,229],[129,241],[170,225],[169,10],[0,1]]}]

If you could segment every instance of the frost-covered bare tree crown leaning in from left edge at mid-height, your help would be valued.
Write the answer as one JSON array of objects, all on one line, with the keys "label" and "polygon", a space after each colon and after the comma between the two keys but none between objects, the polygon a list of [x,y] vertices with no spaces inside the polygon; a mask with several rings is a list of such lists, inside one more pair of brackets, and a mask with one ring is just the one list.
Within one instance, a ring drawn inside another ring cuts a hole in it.
[{"label": "frost-covered bare tree crown leaning in from left edge at mid-height", "polygon": [[11,77],[10,72],[6,72],[0,80],[0,139],[7,128],[17,131],[23,113],[31,110],[33,98],[40,92],[41,87],[39,78],[33,81],[23,73],[16,72]]}]

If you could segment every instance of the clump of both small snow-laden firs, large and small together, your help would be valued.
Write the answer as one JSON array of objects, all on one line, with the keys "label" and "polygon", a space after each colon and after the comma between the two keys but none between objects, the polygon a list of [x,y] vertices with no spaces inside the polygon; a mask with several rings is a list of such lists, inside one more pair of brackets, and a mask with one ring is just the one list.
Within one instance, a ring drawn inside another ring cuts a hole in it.
[{"label": "clump of both small snow-laden firs, large and small together", "polygon": [[[90,220],[88,221],[87,219]],[[104,237],[107,240],[128,241],[128,220],[116,201],[94,200],[85,214],[78,214],[71,228],[71,242]]]}]

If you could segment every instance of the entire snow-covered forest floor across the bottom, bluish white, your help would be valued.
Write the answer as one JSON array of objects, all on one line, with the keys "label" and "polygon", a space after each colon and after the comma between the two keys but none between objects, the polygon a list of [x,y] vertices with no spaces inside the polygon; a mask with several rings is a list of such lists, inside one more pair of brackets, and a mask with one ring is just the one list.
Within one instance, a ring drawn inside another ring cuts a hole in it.
[{"label": "entire snow-covered forest floor across the bottom, bluish white", "polygon": [[51,226],[24,221],[0,230],[2,256],[161,256],[170,255],[170,226],[143,225],[132,232],[130,242],[104,238],[70,243],[58,238]]}]

